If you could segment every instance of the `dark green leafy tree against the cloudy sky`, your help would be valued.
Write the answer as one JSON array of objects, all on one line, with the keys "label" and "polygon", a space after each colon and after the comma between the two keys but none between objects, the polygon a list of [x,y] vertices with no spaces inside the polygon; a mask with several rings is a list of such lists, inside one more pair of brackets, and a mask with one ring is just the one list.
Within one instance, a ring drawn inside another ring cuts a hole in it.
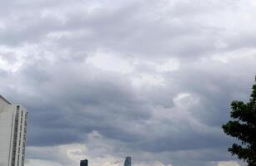
[{"label": "dark green leafy tree against the cloudy sky", "polygon": [[223,125],[223,131],[237,138],[240,144],[233,144],[228,151],[246,161],[248,166],[256,166],[256,77],[250,100],[248,103],[233,101],[230,116],[233,120]]}]

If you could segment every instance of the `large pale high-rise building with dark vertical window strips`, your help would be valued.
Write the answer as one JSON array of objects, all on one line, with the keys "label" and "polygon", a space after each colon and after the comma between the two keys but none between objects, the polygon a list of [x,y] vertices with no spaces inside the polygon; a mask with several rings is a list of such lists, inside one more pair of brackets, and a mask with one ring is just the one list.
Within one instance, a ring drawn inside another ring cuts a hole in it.
[{"label": "large pale high-rise building with dark vertical window strips", "polygon": [[0,166],[24,166],[28,111],[0,95]]}]

